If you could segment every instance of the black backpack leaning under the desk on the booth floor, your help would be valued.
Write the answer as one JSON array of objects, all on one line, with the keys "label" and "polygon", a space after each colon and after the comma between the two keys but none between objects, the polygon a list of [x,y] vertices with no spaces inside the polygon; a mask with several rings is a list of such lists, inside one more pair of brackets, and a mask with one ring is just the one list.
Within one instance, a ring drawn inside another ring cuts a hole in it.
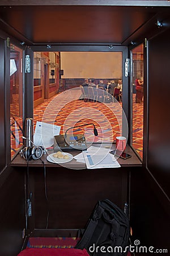
[{"label": "black backpack leaning under the desk on the booth floor", "polygon": [[117,205],[99,201],[75,248],[85,248],[93,256],[127,255],[129,230],[128,217]]}]

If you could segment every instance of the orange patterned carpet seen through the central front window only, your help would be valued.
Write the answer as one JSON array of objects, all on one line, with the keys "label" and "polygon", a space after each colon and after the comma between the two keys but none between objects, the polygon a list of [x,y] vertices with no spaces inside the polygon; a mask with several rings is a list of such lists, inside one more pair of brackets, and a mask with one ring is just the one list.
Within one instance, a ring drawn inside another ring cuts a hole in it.
[{"label": "orange patterned carpet seen through the central front window only", "polygon": [[[62,96],[58,95],[50,101],[46,100],[44,104],[38,106],[34,111],[34,121],[52,123],[61,126],[61,134],[66,129],[73,126],[94,123],[97,130],[103,130],[105,138],[116,139],[120,135],[120,123],[117,118],[121,118],[120,104],[114,104],[114,112],[111,111],[111,104],[101,102],[73,99],[73,93],[70,100],[65,101]],[[79,98],[79,97],[78,97]],[[62,101],[63,100],[63,101]],[[118,107],[117,107],[118,106]],[[113,104],[112,104],[113,107]],[[74,129],[74,134],[86,133],[93,127],[79,127]]]}]

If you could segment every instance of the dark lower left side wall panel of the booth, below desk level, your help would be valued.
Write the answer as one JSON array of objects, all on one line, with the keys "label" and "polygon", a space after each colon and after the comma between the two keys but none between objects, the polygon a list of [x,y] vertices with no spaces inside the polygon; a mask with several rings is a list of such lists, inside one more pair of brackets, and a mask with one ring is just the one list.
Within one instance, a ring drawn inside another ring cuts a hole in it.
[{"label": "dark lower left side wall panel of the booth, below desk level", "polygon": [[22,232],[25,228],[24,172],[12,167],[8,167],[5,172],[9,175],[0,184],[0,255],[14,256],[22,247]]}]

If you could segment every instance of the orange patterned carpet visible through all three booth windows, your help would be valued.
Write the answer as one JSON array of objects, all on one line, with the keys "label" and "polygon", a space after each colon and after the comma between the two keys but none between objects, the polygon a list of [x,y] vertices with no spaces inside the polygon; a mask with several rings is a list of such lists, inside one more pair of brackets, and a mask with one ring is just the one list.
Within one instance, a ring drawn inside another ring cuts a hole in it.
[{"label": "orange patterned carpet visible through all three booth windows", "polygon": [[[121,102],[103,104],[101,102],[78,100],[78,96],[71,92],[66,99],[65,92],[57,94],[34,109],[34,125],[37,121],[48,122],[61,126],[61,134],[71,126],[94,123],[99,134],[102,130],[104,138],[115,140],[121,131]],[[76,94],[76,93],[75,93]],[[14,113],[15,116],[15,113]],[[11,118],[11,156],[22,146],[22,118]],[[92,127],[80,127],[74,129],[74,134],[87,133]],[[94,137],[90,133],[88,137]],[[143,102],[135,104],[135,94],[133,94],[133,147],[142,158],[143,144]]]}]

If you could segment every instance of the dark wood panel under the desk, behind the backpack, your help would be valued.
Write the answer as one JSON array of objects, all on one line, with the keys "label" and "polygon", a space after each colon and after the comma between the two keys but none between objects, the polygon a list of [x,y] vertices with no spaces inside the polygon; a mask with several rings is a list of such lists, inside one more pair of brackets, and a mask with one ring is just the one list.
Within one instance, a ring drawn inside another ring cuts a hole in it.
[{"label": "dark wood panel under the desk, behind the backpack", "polygon": [[[69,170],[46,168],[45,198],[43,168],[29,169],[33,185],[35,228],[45,229],[49,204],[49,229],[83,228],[98,200],[110,199],[123,209],[128,200],[129,169]],[[32,184],[31,184],[32,183]],[[125,186],[122,189],[122,186]]]}]

